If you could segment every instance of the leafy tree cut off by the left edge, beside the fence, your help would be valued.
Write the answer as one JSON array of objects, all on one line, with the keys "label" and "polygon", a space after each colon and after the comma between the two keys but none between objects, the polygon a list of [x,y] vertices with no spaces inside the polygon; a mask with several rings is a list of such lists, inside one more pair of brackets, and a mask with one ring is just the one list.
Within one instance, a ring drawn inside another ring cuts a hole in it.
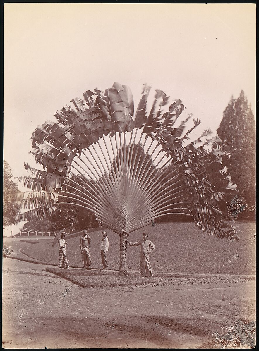
[{"label": "leafy tree cut off by the left edge, beside the fence", "polygon": [[19,205],[14,203],[18,187],[11,180],[12,170],[5,160],[3,166],[3,226],[5,227],[15,224],[15,216],[20,210]]}]

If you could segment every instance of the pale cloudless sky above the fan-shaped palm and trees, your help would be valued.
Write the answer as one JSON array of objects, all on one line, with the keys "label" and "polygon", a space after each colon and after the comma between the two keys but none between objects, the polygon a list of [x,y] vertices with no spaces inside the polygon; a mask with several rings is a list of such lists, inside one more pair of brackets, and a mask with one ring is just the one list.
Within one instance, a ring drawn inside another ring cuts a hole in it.
[{"label": "pale cloudless sky above the fan-shaped palm and trees", "polygon": [[4,5],[4,159],[31,164],[31,134],[86,90],[143,83],[214,132],[241,89],[255,115],[255,4]]}]

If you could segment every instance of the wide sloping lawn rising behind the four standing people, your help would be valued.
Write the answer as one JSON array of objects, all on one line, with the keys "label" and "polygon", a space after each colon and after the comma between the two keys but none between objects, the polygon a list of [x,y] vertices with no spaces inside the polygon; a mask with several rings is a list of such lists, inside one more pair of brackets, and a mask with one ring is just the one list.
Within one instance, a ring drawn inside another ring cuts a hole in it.
[{"label": "wide sloping lawn rising behind the four standing people", "polygon": [[[130,241],[138,241],[144,231],[155,244],[150,254],[154,272],[208,273],[208,274],[255,274],[255,242],[250,238],[255,223],[238,223],[239,242],[218,239],[202,233],[193,223],[163,223],[147,226],[130,234]],[[119,269],[119,236],[109,230],[109,269]],[[101,230],[92,232],[92,267],[102,267],[100,255]],[[79,238],[68,239],[67,258],[71,267],[81,267]],[[58,264],[58,244],[52,249],[53,239],[28,245],[22,249],[30,257],[49,264]],[[139,247],[128,247],[128,269],[139,270]]]}]

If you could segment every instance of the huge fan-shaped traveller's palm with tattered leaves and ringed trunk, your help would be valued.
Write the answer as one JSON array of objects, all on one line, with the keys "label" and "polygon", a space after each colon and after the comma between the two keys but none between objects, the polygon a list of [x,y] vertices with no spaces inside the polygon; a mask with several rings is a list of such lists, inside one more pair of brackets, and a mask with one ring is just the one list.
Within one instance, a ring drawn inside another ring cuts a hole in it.
[{"label": "huge fan-shaped traveller's palm with tattered leaves and ringed trunk", "polygon": [[217,206],[236,189],[222,165],[220,139],[206,130],[191,142],[200,119],[181,118],[182,101],[170,104],[163,91],[155,92],[147,113],[150,86],[135,112],[127,85],[88,90],[55,113],[57,122],[38,126],[31,153],[44,170],[25,163],[30,175],[19,180],[31,191],[18,194],[27,209],[20,219],[45,218],[65,203],[91,210],[119,234],[120,274],[127,272],[129,233],[166,214],[184,214],[212,236],[238,240]]}]

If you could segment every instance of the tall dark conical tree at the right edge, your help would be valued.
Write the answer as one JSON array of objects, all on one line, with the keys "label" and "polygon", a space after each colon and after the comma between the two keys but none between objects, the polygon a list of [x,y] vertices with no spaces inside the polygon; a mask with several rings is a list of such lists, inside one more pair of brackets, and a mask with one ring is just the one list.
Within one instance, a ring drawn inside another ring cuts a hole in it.
[{"label": "tall dark conical tree at the right edge", "polygon": [[[244,91],[231,97],[217,131],[224,151],[223,161],[243,200],[243,216],[254,216],[255,207],[255,119]],[[225,206],[231,197],[226,198]],[[250,213],[249,213],[250,212]]]}]

